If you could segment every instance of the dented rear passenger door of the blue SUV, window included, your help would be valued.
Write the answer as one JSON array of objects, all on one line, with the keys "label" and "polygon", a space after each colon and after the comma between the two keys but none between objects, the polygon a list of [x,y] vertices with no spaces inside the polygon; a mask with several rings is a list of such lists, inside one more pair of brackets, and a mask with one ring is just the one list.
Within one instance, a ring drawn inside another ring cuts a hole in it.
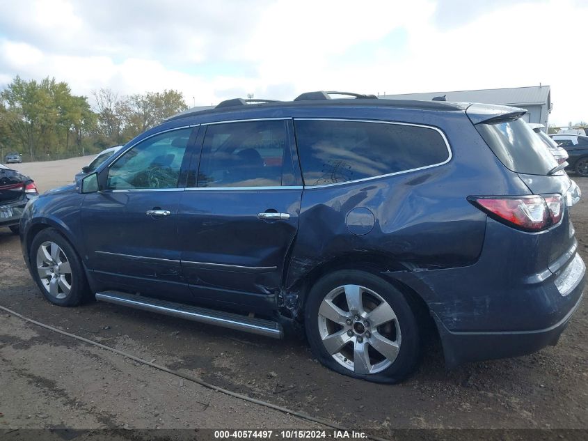
[{"label": "dented rear passenger door of the blue SUV, window included", "polygon": [[200,162],[182,194],[182,270],[200,300],[275,307],[302,194],[292,121],[202,126]]}]

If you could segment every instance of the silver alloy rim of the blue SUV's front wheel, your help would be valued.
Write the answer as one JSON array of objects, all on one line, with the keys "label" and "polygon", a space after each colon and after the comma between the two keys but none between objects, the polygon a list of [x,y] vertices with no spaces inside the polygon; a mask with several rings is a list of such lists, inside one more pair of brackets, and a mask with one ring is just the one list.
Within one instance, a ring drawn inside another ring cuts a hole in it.
[{"label": "silver alloy rim of the blue SUV's front wheel", "polygon": [[37,272],[49,295],[64,299],[72,289],[72,268],[63,249],[55,242],[42,242],[37,249]]}]

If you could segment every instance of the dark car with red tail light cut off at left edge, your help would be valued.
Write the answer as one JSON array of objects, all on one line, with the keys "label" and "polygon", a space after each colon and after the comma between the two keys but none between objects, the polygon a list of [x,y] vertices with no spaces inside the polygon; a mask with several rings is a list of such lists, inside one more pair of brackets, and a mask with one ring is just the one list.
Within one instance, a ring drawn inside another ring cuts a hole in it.
[{"label": "dark car with red tail light cut off at left edge", "polygon": [[18,233],[18,224],[26,203],[38,196],[31,178],[0,164],[0,227]]}]

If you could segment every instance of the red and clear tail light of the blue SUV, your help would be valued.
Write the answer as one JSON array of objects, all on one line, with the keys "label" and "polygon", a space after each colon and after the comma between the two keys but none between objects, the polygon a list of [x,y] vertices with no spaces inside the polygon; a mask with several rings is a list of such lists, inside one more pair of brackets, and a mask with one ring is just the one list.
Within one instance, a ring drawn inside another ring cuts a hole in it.
[{"label": "red and clear tail light of the blue SUV", "polygon": [[498,222],[523,231],[548,229],[564,215],[564,198],[559,194],[469,196],[468,201]]}]

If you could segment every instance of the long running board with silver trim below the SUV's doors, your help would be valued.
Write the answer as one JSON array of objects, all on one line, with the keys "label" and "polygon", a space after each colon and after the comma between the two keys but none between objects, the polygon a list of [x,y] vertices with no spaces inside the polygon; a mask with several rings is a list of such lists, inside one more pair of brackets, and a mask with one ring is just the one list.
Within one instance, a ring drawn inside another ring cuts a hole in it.
[{"label": "long running board with silver trim below the SUV's doors", "polygon": [[251,318],[232,314],[230,312],[215,311],[201,307],[193,307],[189,304],[167,302],[166,300],[143,297],[141,295],[120,293],[118,291],[104,291],[96,293],[96,300],[120,304],[123,307],[143,309],[143,311],[157,312],[166,316],[185,318],[200,323],[228,327],[232,330],[251,332],[273,339],[281,339],[284,331],[282,325],[271,320]]}]

